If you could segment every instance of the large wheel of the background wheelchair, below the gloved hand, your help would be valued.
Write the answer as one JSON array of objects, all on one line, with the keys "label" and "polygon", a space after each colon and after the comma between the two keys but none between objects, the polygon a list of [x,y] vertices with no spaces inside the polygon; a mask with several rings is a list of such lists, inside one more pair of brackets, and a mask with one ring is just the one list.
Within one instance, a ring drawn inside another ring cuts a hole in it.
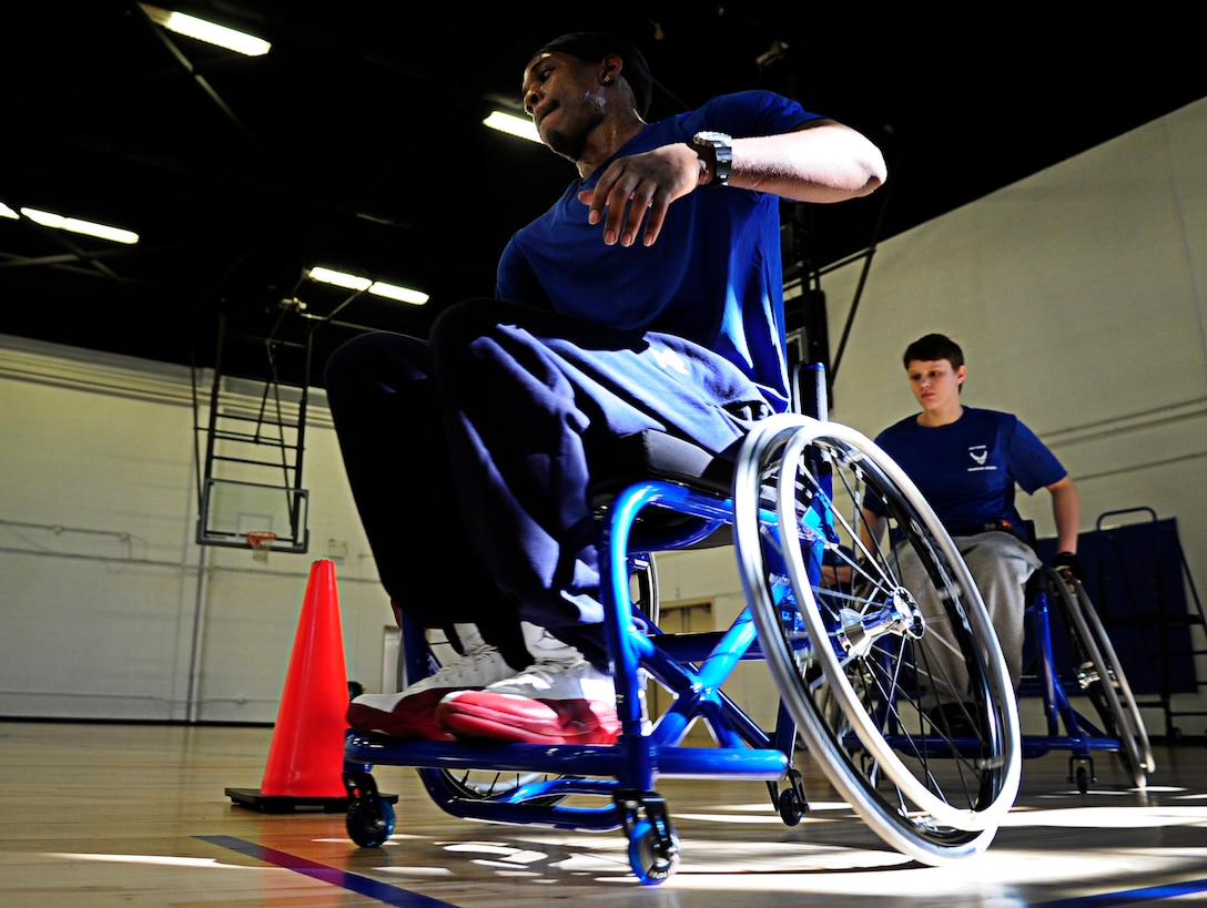
[{"label": "large wheel of the background wheelchair, below the gloved hand", "polygon": [[1063,619],[1077,690],[1094,704],[1107,737],[1119,742],[1124,771],[1136,787],[1143,789],[1147,774],[1155,769],[1153,750],[1139,707],[1097,609],[1072,575],[1049,568],[1048,586]]}]

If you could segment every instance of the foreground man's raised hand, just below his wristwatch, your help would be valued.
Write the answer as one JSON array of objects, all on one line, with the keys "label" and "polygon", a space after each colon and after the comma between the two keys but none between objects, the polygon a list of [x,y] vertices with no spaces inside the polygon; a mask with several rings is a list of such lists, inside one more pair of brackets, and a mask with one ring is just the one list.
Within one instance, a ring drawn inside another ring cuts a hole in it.
[{"label": "foreground man's raised hand, just below his wristwatch", "polygon": [[578,193],[588,206],[587,221],[604,221],[604,242],[631,246],[646,219],[642,244],[653,245],[666,219],[666,209],[695,189],[704,162],[687,145],[661,148],[613,160],[594,189]]}]

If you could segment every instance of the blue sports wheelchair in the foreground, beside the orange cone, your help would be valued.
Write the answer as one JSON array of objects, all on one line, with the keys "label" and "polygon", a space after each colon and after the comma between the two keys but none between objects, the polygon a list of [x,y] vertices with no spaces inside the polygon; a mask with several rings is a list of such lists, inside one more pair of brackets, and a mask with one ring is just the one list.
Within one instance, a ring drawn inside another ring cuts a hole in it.
[{"label": "blue sports wheelchair in the foreground, beside the orange cone", "polygon": [[[917,488],[873,441],[824,420],[822,370],[807,367],[805,375],[812,381],[804,404],[762,421],[735,457],[642,433],[610,458],[625,474],[596,499],[619,739],[398,742],[350,730],[346,828],[357,845],[378,847],[393,831],[373,766],[406,766],[454,816],[620,830],[634,874],[657,884],[674,873],[681,848],[659,778],[762,781],[770,809],[793,826],[809,810],[799,756],[888,845],[917,861],[941,865],[989,847],[1014,804],[1021,767],[1018,705],[997,637]],[[932,632],[935,619],[922,614],[919,591],[902,584],[892,550],[864,541],[868,494],[927,567],[945,635]],[[663,632],[653,553],[725,544],[736,552],[745,609],[722,629]],[[935,704],[937,691],[951,686],[938,648],[955,650],[967,673],[958,725]],[[430,670],[422,631],[403,627],[403,651],[412,678]],[[771,727],[723,689],[742,661],[764,662],[774,678]],[[670,693],[659,715],[643,715],[648,684]],[[715,746],[684,743],[698,720]]]}]

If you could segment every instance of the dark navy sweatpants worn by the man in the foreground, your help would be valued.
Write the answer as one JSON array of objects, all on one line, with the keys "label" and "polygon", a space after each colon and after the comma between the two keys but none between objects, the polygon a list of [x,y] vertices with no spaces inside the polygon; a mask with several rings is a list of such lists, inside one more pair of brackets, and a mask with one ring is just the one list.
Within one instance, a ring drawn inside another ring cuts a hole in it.
[{"label": "dark navy sweatpants worn by the man in the foreground", "polygon": [[[590,464],[645,429],[734,445],[769,408],[722,357],[490,299],[430,341],[365,334],[326,389],[352,496],[391,599],[424,627],[473,622],[514,656],[519,620],[604,666]],[[595,628],[597,631],[597,628]]]}]

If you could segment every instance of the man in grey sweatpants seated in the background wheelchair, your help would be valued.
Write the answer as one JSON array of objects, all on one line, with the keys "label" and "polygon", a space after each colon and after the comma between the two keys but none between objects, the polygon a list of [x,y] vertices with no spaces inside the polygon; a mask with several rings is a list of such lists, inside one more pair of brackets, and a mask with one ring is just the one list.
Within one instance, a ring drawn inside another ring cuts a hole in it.
[{"label": "man in grey sweatpants seated in the background wheelchair", "polygon": [[[910,389],[922,408],[876,437],[934,509],[960,549],[985,599],[1010,676],[1018,686],[1022,663],[1025,584],[1042,563],[1027,540],[1015,508],[1015,488],[1051,493],[1057,567],[1080,576],[1077,560],[1081,516],[1077,485],[1048,447],[1013,414],[961,403],[968,368],[960,345],[943,334],[927,334],[903,356]],[[869,498],[873,535],[884,534],[880,504]],[[922,572],[909,546],[902,546],[902,575],[911,588]],[[941,615],[922,602],[925,614]],[[931,629],[941,627],[938,619]],[[950,668],[956,676],[964,673]],[[958,699],[958,692],[949,692]]]}]

